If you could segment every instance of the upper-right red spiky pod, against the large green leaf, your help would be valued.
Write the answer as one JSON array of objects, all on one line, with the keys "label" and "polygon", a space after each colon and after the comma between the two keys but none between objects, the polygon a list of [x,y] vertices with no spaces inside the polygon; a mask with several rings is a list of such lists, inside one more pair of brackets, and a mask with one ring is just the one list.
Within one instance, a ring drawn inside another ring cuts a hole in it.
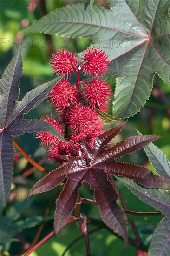
[{"label": "upper-right red spiky pod, against the large green leaf", "polygon": [[108,55],[105,54],[100,48],[94,47],[86,49],[81,57],[82,67],[85,74],[103,75],[108,69],[107,65],[111,62],[108,59]]}]

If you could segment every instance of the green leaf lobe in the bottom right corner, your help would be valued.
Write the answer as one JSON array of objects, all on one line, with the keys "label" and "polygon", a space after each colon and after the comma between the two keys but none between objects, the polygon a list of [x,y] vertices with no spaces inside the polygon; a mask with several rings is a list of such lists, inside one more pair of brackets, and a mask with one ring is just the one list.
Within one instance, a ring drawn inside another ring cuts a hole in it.
[{"label": "green leaf lobe in the bottom right corner", "polygon": [[157,225],[153,235],[148,256],[159,255],[169,256],[170,255],[170,218],[163,218]]}]

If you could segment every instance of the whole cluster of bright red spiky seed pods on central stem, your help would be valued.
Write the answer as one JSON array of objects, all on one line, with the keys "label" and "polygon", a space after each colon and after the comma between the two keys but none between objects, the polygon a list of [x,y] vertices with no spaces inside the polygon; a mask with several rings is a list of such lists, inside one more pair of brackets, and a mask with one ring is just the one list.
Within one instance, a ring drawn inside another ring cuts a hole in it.
[{"label": "whole cluster of bright red spiky seed pods on central stem", "polygon": [[[76,53],[65,49],[52,54],[53,73],[66,74],[66,79],[60,80],[48,97],[52,106],[58,111],[59,121],[53,115],[42,118],[52,124],[65,142],[48,133],[40,132],[36,136],[49,148],[49,159],[62,162],[62,155],[76,155],[85,137],[92,147],[94,139],[103,131],[101,121],[95,108],[106,109],[111,96],[111,88],[101,77],[108,70],[108,56],[99,48],[85,50],[81,58],[76,59]],[[88,76],[88,81],[80,81],[81,70]],[[70,77],[77,72],[76,85],[70,84]],[[89,76],[92,81],[89,81]],[[65,126],[65,127],[63,127]]]}]

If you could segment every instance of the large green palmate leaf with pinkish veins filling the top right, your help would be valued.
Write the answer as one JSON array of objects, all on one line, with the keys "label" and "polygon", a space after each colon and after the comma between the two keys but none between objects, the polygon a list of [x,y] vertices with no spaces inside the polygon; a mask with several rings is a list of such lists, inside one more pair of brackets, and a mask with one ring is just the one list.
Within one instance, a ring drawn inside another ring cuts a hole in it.
[{"label": "large green palmate leaf with pinkish veins filling the top right", "polygon": [[168,0],[111,0],[111,8],[68,5],[47,14],[28,30],[66,37],[91,37],[110,55],[105,77],[118,74],[113,115],[127,118],[143,106],[157,72],[170,84]]}]

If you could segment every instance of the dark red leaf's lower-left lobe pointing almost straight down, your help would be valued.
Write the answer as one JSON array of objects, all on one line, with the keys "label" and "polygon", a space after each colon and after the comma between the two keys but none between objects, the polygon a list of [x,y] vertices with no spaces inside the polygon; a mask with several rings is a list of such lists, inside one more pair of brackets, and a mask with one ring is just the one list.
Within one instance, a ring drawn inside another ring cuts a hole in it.
[{"label": "dark red leaf's lower-left lobe pointing almost straight down", "polygon": [[81,180],[84,175],[85,171],[80,172],[78,175],[74,174],[72,178],[69,178],[59,199],[56,201],[54,228],[57,235],[59,230],[65,225],[65,222],[69,219],[72,210],[75,208],[78,198],[78,189],[82,186]]}]

